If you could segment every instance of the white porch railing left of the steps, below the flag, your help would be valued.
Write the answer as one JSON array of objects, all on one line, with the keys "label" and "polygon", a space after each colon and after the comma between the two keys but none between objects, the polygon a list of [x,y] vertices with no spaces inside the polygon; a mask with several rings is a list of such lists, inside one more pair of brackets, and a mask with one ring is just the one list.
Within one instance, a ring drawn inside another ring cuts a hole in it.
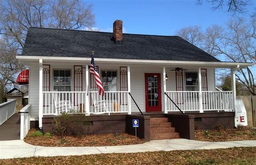
[{"label": "white porch railing left of the steps, below the flag", "polygon": [[[86,109],[86,97],[88,107]],[[105,92],[43,92],[43,115],[58,115],[62,112],[87,114],[128,112],[130,95],[127,91]]]}]

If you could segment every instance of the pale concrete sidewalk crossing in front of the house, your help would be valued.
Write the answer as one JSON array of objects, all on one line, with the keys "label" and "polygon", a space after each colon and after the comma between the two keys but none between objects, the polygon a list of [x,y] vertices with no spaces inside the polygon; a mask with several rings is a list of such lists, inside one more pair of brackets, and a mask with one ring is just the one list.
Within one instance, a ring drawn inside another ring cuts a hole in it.
[{"label": "pale concrete sidewalk crossing in front of the house", "polygon": [[255,147],[256,140],[231,142],[203,142],[186,139],[152,140],[144,144],[104,147],[43,147],[25,143],[23,140],[0,141],[0,159],[20,157],[54,157],[84,154],[134,153],[146,151],[172,151],[193,149],[216,149],[230,147]]}]

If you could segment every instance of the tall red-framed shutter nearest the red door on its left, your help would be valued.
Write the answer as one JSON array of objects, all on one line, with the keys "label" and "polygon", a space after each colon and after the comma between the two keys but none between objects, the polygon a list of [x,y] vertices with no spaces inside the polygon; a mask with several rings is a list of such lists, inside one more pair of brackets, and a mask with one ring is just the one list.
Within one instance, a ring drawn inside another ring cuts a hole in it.
[{"label": "tall red-framed shutter nearest the red door on its left", "polygon": [[[120,67],[120,91],[128,91],[128,81],[127,81],[127,67]],[[124,102],[128,103],[126,93],[121,94],[120,100],[121,104]],[[124,104],[123,104],[124,105]]]}]

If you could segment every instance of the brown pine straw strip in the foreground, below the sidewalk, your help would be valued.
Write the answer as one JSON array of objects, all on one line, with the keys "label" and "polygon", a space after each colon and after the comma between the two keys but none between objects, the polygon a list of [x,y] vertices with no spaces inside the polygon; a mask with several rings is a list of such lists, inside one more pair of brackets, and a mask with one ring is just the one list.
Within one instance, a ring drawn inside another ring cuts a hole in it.
[{"label": "brown pine straw strip in the foreground, below the sidewalk", "polygon": [[29,157],[0,160],[0,164],[59,165],[255,165],[256,147],[211,150],[155,151],[140,153],[93,154],[66,157]]}]

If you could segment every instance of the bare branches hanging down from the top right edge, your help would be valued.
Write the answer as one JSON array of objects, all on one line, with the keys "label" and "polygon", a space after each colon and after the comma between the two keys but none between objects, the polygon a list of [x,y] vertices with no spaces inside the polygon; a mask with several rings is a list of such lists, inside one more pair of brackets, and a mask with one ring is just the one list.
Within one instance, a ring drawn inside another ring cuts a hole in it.
[{"label": "bare branches hanging down from the top right edge", "polygon": [[[246,12],[246,7],[249,6],[252,0],[206,0],[208,3],[212,3],[212,9],[222,9],[232,14]],[[197,4],[202,5],[203,0],[197,0]]]}]

